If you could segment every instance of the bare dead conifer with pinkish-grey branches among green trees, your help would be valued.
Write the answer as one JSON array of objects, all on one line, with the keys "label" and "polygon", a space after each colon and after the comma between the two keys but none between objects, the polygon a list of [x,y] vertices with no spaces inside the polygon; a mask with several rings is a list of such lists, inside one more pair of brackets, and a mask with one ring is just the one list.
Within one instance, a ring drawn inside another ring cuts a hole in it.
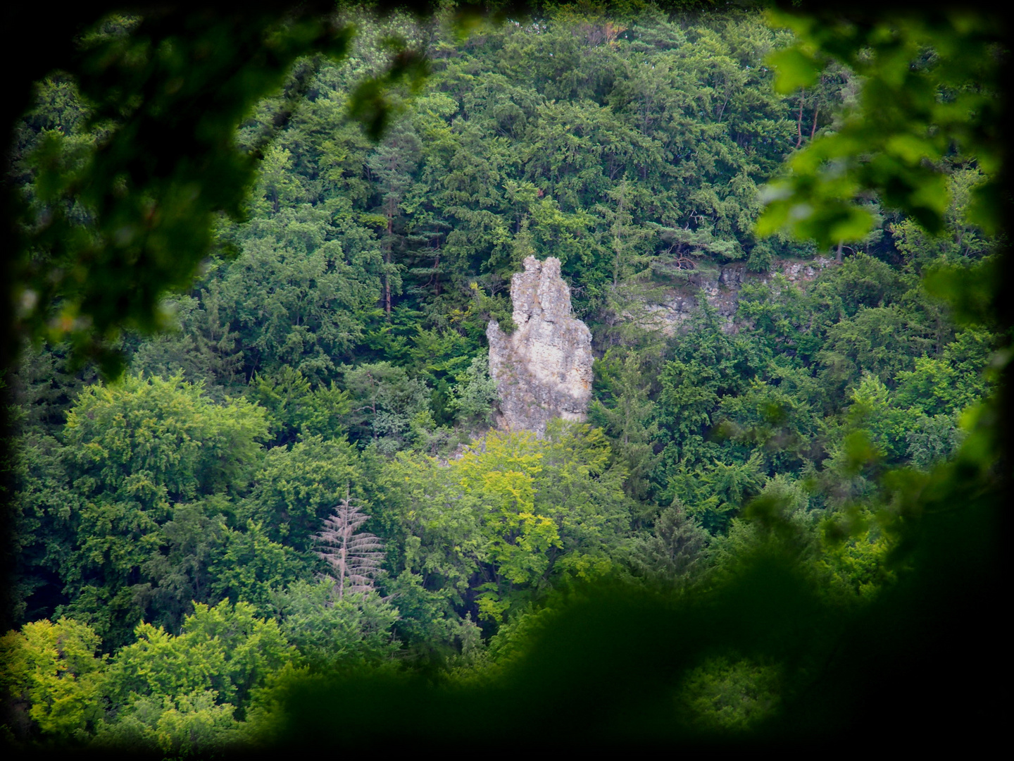
[{"label": "bare dead conifer with pinkish-grey branches among green trees", "polygon": [[329,577],[335,581],[339,600],[346,593],[355,595],[373,590],[373,576],[383,561],[383,545],[373,534],[357,533],[369,520],[370,516],[361,512],[346,495],[316,535],[317,544],[327,548],[316,554],[334,569],[334,575]]}]

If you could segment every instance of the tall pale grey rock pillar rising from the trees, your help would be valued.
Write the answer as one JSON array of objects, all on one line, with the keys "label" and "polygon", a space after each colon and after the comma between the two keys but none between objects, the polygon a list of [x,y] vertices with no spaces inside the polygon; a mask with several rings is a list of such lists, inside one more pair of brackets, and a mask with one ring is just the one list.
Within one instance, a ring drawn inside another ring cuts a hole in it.
[{"label": "tall pale grey rock pillar rising from the trees", "polygon": [[542,433],[554,417],[584,420],[591,398],[591,332],[571,315],[570,288],[560,260],[524,260],[511,278],[511,335],[490,321],[490,375],[500,392],[497,423]]}]

